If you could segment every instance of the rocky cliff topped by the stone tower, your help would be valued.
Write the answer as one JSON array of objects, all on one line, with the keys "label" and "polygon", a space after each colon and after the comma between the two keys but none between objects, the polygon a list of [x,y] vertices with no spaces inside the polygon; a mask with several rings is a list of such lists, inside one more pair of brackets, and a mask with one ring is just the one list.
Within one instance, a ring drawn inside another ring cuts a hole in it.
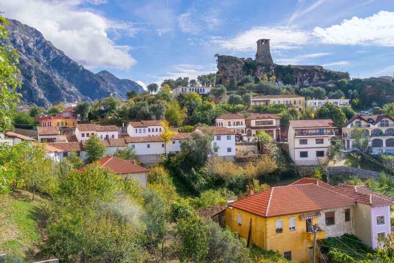
[{"label": "rocky cliff topped by the stone tower", "polygon": [[231,78],[240,80],[247,75],[260,78],[264,75],[276,76],[278,83],[305,86],[334,83],[342,78],[349,79],[347,73],[323,69],[322,66],[261,64],[251,58],[245,60],[233,56],[219,56],[217,69],[220,76],[217,83],[224,85],[229,84]]}]

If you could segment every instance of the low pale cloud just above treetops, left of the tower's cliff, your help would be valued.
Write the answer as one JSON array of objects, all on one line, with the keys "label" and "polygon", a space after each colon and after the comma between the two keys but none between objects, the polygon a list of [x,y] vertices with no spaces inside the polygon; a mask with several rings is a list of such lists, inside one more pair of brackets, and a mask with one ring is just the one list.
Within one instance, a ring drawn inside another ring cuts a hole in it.
[{"label": "low pale cloud just above treetops, left of the tower's cliff", "polygon": [[159,86],[162,84],[165,79],[177,79],[179,77],[189,77],[189,79],[197,79],[198,75],[204,75],[209,73],[215,73],[217,71],[216,64],[210,65],[193,65],[193,64],[179,64],[171,67],[166,73],[165,76],[152,76],[157,80]]}]

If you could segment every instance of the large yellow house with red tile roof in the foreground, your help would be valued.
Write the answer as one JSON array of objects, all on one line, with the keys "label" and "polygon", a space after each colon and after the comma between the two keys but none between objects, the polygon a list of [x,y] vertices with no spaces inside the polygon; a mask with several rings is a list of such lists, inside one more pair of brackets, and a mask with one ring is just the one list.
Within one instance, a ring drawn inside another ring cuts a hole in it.
[{"label": "large yellow house with red tile roof in the foreground", "polygon": [[351,223],[348,227],[341,222],[355,203],[329,188],[330,185],[316,180],[252,193],[229,203],[226,224],[250,244],[278,251],[289,260],[313,262],[313,225],[319,229],[316,239],[325,238],[326,232],[351,233]]}]

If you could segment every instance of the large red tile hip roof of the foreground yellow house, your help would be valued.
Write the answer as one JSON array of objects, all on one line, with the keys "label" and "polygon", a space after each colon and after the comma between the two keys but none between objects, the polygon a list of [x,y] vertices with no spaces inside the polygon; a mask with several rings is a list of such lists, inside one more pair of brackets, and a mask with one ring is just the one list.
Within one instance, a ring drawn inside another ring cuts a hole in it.
[{"label": "large red tile hip roof of the foreground yellow house", "polygon": [[354,205],[351,198],[312,183],[271,187],[229,204],[230,207],[262,217],[293,215],[348,205]]}]

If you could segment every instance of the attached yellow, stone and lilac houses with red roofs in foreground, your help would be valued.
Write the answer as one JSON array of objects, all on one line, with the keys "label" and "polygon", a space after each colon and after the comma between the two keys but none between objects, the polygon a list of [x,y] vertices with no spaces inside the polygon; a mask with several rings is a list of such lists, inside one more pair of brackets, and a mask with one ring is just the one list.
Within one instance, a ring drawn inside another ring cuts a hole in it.
[{"label": "attached yellow, stone and lilac houses with red roofs in foreground", "polygon": [[394,203],[390,200],[364,185],[333,187],[303,178],[229,201],[225,222],[240,237],[264,250],[277,250],[288,260],[312,263],[313,225],[318,229],[316,239],[349,233],[376,248],[377,237],[391,233],[390,205]]}]

